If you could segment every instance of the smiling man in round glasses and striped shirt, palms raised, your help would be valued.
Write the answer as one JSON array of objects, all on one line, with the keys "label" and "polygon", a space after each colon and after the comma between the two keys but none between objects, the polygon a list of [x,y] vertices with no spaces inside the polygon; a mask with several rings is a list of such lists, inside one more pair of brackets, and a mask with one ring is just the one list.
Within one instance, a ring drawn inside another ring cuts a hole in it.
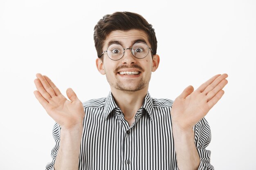
[{"label": "smiling man in round glasses and striped shirt, palms raised", "polygon": [[56,121],[55,170],[212,170],[210,128],[204,116],[224,94],[227,74],[215,75],[175,101],[148,93],[159,55],[151,24],[136,13],[105,15],[94,27],[98,71],[106,75],[106,98],[81,103],[71,88],[67,100],[37,74],[34,94]]}]

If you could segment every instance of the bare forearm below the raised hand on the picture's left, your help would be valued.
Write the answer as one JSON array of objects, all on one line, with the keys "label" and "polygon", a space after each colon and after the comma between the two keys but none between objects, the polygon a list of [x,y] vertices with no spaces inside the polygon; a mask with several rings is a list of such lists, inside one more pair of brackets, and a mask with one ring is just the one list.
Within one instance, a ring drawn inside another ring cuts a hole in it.
[{"label": "bare forearm below the raised hand on the picture's left", "polygon": [[54,163],[55,170],[78,170],[82,131],[82,125],[72,129],[61,128],[60,148]]}]

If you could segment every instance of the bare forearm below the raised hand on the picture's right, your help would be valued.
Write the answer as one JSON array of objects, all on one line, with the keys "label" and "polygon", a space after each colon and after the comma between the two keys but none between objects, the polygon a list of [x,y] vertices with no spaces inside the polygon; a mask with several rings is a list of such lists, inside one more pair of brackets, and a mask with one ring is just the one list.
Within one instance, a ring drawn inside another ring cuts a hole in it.
[{"label": "bare forearm below the raised hand on the picture's right", "polygon": [[194,143],[194,130],[181,129],[173,123],[173,139],[179,170],[197,170],[200,157]]}]

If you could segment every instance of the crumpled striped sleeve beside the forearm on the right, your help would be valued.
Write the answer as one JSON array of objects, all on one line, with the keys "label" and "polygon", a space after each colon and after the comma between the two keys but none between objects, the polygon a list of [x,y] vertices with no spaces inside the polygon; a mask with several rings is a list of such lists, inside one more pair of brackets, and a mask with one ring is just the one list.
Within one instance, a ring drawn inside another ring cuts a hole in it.
[{"label": "crumpled striped sleeve beside the forearm on the right", "polygon": [[195,124],[194,131],[195,146],[200,156],[200,165],[198,170],[214,170],[210,163],[211,151],[205,149],[211,141],[211,129],[205,118]]}]

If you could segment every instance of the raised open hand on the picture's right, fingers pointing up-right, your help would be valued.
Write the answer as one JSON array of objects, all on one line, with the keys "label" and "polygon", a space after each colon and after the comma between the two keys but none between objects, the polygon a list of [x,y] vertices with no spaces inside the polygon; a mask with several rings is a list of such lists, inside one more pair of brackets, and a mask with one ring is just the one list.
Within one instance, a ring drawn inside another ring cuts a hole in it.
[{"label": "raised open hand on the picture's right, fingers pointing up-right", "polygon": [[193,86],[185,88],[173,102],[173,123],[183,130],[191,129],[222,97],[227,77],[227,74],[215,75],[195,91]]}]

